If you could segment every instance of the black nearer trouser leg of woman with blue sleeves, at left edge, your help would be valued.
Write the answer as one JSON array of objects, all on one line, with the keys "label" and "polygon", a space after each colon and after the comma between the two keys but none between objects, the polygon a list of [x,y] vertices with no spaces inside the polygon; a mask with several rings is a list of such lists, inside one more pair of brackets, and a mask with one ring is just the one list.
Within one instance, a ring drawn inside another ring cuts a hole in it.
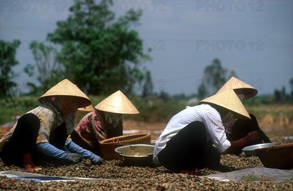
[{"label": "black nearer trouser leg of woman with blue sleeves, at left edge", "polygon": [[21,116],[12,137],[4,144],[0,158],[6,165],[23,165],[23,154],[32,152],[40,129],[39,118],[27,113]]}]

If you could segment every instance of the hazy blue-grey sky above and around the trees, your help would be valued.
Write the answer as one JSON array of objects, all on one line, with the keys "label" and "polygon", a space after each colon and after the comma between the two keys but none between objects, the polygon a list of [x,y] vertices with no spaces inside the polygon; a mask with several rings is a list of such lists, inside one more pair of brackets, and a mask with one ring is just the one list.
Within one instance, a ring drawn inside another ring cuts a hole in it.
[{"label": "hazy blue-grey sky above and around the trees", "polygon": [[[20,64],[15,71],[34,64],[28,44],[45,41],[47,33],[56,28],[56,21],[66,20],[72,3],[0,1],[0,38],[21,40],[17,53]],[[292,0],[120,0],[110,7],[117,15],[131,8],[143,11],[141,25],[135,29],[145,48],[152,49],[153,60],[143,66],[151,71],[156,92],[196,93],[204,68],[214,58],[257,88],[260,95],[282,86],[287,93],[291,91]],[[15,81],[25,91],[23,82],[34,78],[21,73]],[[143,83],[135,86],[139,89]]]}]

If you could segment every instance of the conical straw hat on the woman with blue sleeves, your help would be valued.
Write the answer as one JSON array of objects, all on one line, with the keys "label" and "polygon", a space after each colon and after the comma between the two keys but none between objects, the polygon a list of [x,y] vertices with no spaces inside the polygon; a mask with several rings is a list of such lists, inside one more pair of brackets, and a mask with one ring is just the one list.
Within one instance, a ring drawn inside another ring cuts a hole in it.
[{"label": "conical straw hat on the woman with blue sleeves", "polygon": [[77,85],[73,84],[67,79],[64,79],[49,89],[38,99],[38,101],[43,103],[44,98],[49,96],[74,96],[79,98],[79,105],[91,105],[90,99],[84,94],[84,92],[82,92],[82,90],[80,90]]}]

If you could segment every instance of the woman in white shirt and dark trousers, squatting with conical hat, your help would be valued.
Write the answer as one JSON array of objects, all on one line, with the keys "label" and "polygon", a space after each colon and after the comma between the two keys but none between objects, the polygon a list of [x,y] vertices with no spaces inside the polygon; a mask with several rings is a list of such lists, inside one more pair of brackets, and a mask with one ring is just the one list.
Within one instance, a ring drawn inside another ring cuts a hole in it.
[{"label": "woman in white shirt and dark trousers, squatting with conical hat", "polygon": [[[217,93],[199,104],[187,107],[170,119],[156,140],[155,164],[176,173],[192,174],[195,169],[205,167],[223,171],[221,154],[239,149],[259,137],[258,131],[253,131],[235,142],[227,139],[223,122],[229,121],[230,112],[235,118],[250,120],[233,90]],[[222,122],[222,119],[225,120]]]}]

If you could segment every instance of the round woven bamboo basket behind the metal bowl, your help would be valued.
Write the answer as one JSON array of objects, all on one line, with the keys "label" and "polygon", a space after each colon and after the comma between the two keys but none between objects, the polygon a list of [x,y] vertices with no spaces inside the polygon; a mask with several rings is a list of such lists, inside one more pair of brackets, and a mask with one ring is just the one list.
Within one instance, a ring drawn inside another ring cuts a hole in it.
[{"label": "round woven bamboo basket behind the metal bowl", "polygon": [[122,146],[146,144],[150,145],[150,133],[135,133],[113,137],[100,142],[101,152],[105,160],[119,160],[115,149]]}]

